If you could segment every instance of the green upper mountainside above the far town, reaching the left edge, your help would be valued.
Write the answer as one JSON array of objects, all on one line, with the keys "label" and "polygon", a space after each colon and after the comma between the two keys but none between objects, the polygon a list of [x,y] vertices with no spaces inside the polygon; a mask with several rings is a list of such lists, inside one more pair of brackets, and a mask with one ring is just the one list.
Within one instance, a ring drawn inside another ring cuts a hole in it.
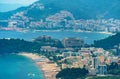
[{"label": "green upper mountainside above the far town, reaching the left edge", "polygon": [[[42,4],[44,10],[32,7],[35,4]],[[60,10],[70,11],[76,19],[96,19],[96,18],[116,18],[120,19],[120,1],[119,0],[40,0],[26,7],[26,15],[34,18],[45,18],[48,15],[55,14]],[[23,11],[21,8],[17,10],[0,13],[1,19],[7,19],[17,11]],[[12,14],[11,14],[12,13]],[[6,15],[6,16],[3,16]]]}]

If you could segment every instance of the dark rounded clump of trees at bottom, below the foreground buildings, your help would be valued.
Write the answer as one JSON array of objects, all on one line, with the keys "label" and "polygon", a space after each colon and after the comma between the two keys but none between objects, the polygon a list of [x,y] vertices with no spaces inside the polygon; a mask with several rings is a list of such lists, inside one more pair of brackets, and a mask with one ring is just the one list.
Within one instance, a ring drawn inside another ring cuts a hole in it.
[{"label": "dark rounded clump of trees at bottom, below the foreground buildings", "polygon": [[66,68],[61,70],[57,75],[56,78],[61,79],[84,79],[84,77],[88,74],[88,70],[85,68]]}]

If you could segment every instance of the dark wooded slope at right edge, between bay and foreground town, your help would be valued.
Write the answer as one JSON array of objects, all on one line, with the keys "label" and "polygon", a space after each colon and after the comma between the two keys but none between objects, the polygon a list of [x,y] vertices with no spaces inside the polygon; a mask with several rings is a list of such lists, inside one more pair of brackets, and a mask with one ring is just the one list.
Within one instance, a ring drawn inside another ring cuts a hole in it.
[{"label": "dark wooded slope at right edge, between bay and foreground town", "polygon": [[110,36],[106,39],[94,41],[94,46],[95,47],[101,47],[104,49],[111,49],[115,45],[120,44],[120,33],[117,33],[116,35]]}]

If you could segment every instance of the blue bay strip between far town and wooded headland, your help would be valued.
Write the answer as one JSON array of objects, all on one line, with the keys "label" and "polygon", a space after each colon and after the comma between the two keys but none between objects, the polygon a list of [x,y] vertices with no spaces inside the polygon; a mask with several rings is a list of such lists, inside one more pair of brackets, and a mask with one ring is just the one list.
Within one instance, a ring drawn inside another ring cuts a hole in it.
[{"label": "blue bay strip between far town and wooded headland", "polygon": [[94,40],[104,39],[110,34],[102,34],[102,33],[92,33],[92,32],[74,32],[74,31],[51,31],[51,32],[33,32],[29,31],[26,33],[16,32],[16,31],[0,31],[0,38],[20,38],[32,41],[32,39],[41,36],[41,35],[49,35],[52,38],[62,40],[65,37],[79,37],[85,40],[85,43],[92,44]]}]

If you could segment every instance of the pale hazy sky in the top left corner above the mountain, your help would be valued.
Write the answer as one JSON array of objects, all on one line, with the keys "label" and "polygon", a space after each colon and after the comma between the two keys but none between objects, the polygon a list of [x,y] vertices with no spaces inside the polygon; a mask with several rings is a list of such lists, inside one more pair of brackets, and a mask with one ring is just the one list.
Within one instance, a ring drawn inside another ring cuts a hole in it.
[{"label": "pale hazy sky in the top left corner above the mountain", "polygon": [[0,0],[0,3],[9,3],[9,4],[23,4],[28,5],[37,0]]}]

